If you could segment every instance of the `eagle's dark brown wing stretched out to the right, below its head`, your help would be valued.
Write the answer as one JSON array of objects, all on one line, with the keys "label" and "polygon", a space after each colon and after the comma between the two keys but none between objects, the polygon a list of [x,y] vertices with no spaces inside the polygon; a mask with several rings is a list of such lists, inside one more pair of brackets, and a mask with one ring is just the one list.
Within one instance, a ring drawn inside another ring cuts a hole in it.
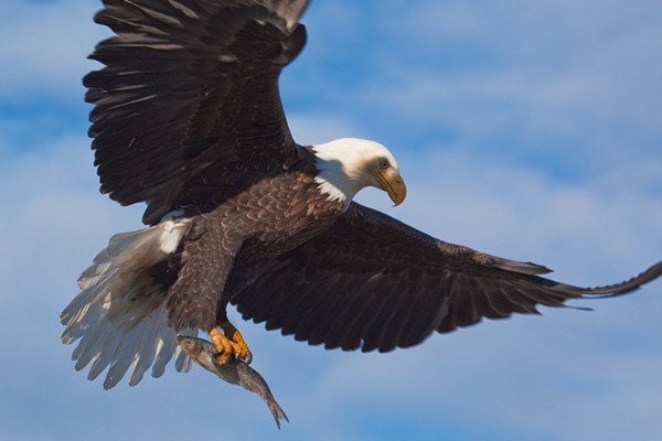
[{"label": "eagle's dark brown wing stretched out to the right, below its head", "polygon": [[300,341],[386,352],[482,318],[626,293],[662,275],[662,262],[602,288],[538,276],[545,272],[538,265],[444,243],[352,203],[332,227],[273,261],[232,302],[245,319]]}]

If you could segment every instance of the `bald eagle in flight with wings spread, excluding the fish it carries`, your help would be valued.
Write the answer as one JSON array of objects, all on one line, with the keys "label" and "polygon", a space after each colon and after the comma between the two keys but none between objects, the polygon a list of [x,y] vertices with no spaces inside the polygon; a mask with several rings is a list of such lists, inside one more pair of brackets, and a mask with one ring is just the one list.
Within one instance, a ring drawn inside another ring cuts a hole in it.
[{"label": "bald eagle in flight with wings spread, excluding the fish it carries", "polygon": [[406,196],[382,144],[292,139],[278,92],[306,42],[303,0],[105,0],[115,36],[84,78],[102,193],[146,203],[63,311],[76,368],[131,385],[190,363],[177,335],[209,333],[218,362],[250,362],[226,316],[327,348],[380,352],[536,305],[615,295],[662,273],[578,288],[545,267],[448,244],[352,202],[366,186]]}]

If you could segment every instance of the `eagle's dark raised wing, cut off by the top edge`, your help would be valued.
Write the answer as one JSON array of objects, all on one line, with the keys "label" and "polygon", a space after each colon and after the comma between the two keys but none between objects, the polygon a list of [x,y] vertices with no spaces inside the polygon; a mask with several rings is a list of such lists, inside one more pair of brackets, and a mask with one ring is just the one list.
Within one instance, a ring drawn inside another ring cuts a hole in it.
[{"label": "eagle's dark raised wing, cut off by the top edge", "polygon": [[278,75],[306,42],[307,3],[105,0],[95,21],[117,36],[98,44],[90,57],[106,67],[84,79],[102,192],[146,201],[153,224],[214,200],[200,191],[207,176],[228,194],[264,175],[247,164],[277,155],[286,166],[297,148]]}]

